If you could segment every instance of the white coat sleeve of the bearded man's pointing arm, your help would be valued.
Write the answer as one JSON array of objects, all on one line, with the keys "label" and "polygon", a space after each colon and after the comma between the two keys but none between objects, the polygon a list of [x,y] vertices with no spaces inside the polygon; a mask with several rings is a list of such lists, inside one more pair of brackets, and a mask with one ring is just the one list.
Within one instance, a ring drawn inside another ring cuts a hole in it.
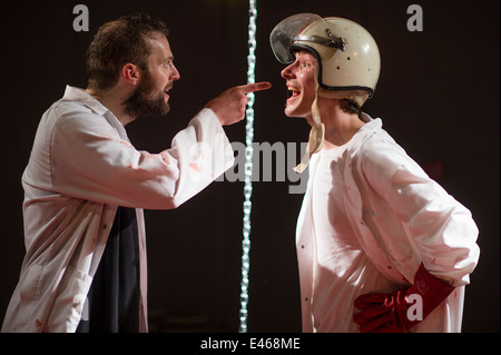
[{"label": "white coat sleeve of the bearded man's pointing arm", "polygon": [[139,151],[105,117],[56,108],[50,140],[53,189],[128,207],[175,208],[233,166],[229,141],[215,114],[202,110],[159,154]]}]

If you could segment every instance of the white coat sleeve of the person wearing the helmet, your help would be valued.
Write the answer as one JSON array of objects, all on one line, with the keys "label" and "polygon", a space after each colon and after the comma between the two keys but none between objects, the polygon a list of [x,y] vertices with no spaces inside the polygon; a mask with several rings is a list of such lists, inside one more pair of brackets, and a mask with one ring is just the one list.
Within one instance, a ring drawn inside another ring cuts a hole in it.
[{"label": "white coat sleeve of the person wearing the helmet", "polygon": [[[409,245],[426,269],[453,286],[469,283],[480,249],[470,210],[449,195],[390,137],[374,138],[365,149],[363,170],[370,185],[397,218]],[[385,235],[389,249],[400,246]]]}]

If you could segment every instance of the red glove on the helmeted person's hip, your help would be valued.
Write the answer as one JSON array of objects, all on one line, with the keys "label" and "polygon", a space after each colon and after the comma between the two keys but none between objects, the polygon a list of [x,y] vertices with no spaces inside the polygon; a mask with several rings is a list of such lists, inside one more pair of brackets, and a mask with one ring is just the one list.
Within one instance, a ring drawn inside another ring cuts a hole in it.
[{"label": "red glove on the helmeted person's hip", "polygon": [[[362,309],[353,316],[362,333],[402,333],[423,321],[454,289],[431,275],[421,264],[414,277],[414,285],[395,289],[391,294],[367,294],[355,299],[355,307]],[[418,296],[416,296],[418,295]],[[421,297],[421,298],[419,298]],[[419,313],[407,316],[409,308],[421,307]],[[410,319],[411,318],[411,319]],[[419,318],[419,317],[418,317]]]}]

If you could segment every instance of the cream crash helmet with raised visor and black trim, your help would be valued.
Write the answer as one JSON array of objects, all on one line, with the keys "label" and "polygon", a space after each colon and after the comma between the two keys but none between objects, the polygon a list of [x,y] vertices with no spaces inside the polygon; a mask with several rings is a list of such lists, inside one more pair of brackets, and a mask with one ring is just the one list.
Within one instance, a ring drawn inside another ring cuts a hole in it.
[{"label": "cream crash helmet with raised visor and black trim", "polygon": [[294,61],[294,52],[316,57],[318,96],[350,99],[358,107],[374,95],[381,71],[377,45],[362,26],[337,17],[298,13],[281,21],[269,36],[275,57]]}]

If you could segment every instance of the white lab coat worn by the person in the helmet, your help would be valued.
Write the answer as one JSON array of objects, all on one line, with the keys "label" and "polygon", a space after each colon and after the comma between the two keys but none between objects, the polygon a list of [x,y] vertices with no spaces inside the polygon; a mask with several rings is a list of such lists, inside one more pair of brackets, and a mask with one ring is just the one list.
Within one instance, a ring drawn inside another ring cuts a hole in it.
[{"label": "white lab coat worn by the person in the helmet", "polygon": [[[338,191],[332,195],[340,196],[336,204],[343,206],[365,258],[352,258],[355,265],[350,265],[351,256],[344,260],[335,258],[346,265],[325,265],[325,259],[321,265],[317,259],[317,245],[327,245],[318,240],[326,238],[321,231],[335,226],[325,226],[326,219],[324,225],[318,223],[320,213],[331,210],[334,205],[316,206],[312,198],[312,175],[325,168],[318,167],[318,156],[314,155],[296,230],[303,332],[356,332],[352,319],[356,312],[354,299],[361,294],[390,293],[397,286],[410,285],[421,263],[456,288],[412,332],[460,332],[464,285],[469,284],[469,274],[480,254],[475,244],[478,228],[470,211],[430,179],[382,129],[381,119],[373,120],[367,115],[363,119],[367,124],[343,147],[338,164],[328,168],[335,169],[332,174],[341,180],[336,183]],[[335,293],[320,297],[315,290],[330,289],[328,283],[333,282],[333,275],[324,272],[326,268],[350,269],[352,274],[334,275],[347,282],[337,286]],[[318,299],[322,305],[315,304]],[[312,312],[330,322],[327,327]],[[332,313],[331,318],[327,313]],[[347,316],[333,321],[336,314]]]}]

